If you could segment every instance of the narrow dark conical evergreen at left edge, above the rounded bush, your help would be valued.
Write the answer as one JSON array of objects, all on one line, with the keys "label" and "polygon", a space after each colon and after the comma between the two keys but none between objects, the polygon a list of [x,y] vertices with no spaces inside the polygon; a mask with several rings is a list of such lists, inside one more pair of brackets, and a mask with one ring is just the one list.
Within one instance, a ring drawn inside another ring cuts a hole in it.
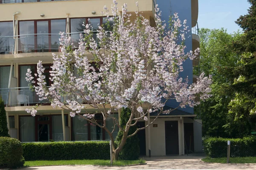
[{"label": "narrow dark conical evergreen at left edge, above the rounded bush", "polygon": [[10,137],[7,127],[6,111],[4,108],[4,102],[0,96],[0,136]]}]

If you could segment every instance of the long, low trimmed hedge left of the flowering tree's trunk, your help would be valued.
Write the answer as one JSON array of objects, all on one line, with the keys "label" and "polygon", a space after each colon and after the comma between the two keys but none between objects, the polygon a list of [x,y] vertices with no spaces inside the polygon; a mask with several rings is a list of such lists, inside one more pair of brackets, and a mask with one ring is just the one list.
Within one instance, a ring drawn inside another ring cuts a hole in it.
[{"label": "long, low trimmed hedge left of the flowering tree's trunk", "polygon": [[29,142],[22,143],[26,161],[110,159],[110,145],[99,142]]}]

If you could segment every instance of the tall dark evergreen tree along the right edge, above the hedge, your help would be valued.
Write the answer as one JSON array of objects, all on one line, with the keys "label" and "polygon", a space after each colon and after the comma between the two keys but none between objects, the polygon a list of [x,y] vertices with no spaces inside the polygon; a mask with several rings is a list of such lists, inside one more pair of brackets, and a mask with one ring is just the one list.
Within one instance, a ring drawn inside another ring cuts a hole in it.
[{"label": "tall dark evergreen tree along the right edge, above the hedge", "polygon": [[246,135],[256,129],[256,0],[248,2],[251,4],[248,14],[236,21],[244,35],[233,42],[234,51],[241,59],[233,68],[235,97],[229,105],[231,121],[227,126],[230,129],[233,124],[243,127],[242,133]]}]

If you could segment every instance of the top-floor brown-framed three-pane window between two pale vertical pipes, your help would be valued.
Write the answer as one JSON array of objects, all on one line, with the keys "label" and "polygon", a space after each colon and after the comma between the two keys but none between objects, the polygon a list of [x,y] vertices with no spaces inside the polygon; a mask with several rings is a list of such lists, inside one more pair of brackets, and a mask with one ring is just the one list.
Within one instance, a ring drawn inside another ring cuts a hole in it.
[{"label": "top-floor brown-framed three-pane window between two pale vertical pipes", "polygon": [[60,31],[66,31],[66,19],[19,21],[20,53],[57,52]]}]

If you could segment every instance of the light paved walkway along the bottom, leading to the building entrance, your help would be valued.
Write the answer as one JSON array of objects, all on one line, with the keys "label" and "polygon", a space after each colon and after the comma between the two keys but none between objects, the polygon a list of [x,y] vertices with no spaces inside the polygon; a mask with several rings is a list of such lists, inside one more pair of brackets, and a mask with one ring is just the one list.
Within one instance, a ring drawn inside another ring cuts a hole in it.
[{"label": "light paved walkway along the bottom, leading to the building entrance", "polygon": [[19,170],[256,170],[256,164],[207,164],[200,162],[203,156],[153,156],[145,157],[146,165],[127,167],[94,167],[88,165],[29,167]]}]

